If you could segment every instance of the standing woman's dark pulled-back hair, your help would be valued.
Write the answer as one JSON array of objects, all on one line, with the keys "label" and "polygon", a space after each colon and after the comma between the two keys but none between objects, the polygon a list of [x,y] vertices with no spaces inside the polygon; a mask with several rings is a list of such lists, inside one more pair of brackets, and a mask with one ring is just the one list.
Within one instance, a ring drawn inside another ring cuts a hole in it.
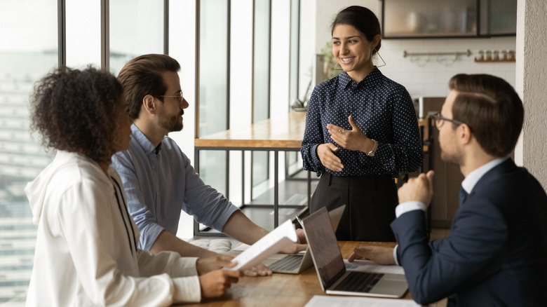
[{"label": "standing woman's dark pulled-back hair", "polygon": [[[335,20],[332,21],[330,27],[330,34],[332,35],[335,32],[336,25],[351,25],[354,28],[358,29],[361,33],[365,35],[367,41],[372,41],[374,36],[381,34],[380,22],[378,18],[372,11],[363,6],[349,6],[344,8],[342,11],[339,11],[335,17]],[[381,39],[378,41],[378,45],[372,53],[377,53],[381,47]]]}]

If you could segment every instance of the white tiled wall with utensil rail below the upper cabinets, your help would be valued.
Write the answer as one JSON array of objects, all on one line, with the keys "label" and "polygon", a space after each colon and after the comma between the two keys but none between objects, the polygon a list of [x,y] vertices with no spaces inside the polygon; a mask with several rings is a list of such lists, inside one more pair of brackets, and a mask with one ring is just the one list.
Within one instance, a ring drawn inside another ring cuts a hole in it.
[{"label": "white tiled wall with utensil rail below the upper cabinets", "polygon": [[[407,53],[466,52],[471,56],[403,57]],[[412,97],[445,96],[454,74],[492,74],[515,86],[515,62],[475,62],[478,50],[515,50],[515,36],[489,39],[383,39],[380,55],[386,66],[381,72],[405,86]],[[517,57],[519,55],[516,55]],[[428,58],[428,60],[427,60]],[[381,62],[374,60],[374,64]]]}]

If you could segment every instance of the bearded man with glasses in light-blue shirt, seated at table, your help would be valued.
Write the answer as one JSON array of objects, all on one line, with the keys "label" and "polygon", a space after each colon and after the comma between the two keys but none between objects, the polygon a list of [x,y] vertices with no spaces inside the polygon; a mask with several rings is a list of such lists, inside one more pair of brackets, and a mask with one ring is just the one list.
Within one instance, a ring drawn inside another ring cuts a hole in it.
[{"label": "bearded man with glasses in light-blue shirt, seated at table", "polygon": [[[112,157],[126,191],[129,212],[140,228],[140,248],[154,254],[162,250],[182,257],[212,257],[215,252],[177,238],[181,210],[243,243],[252,245],[268,231],[252,223],[221,193],[203,183],[179,146],[168,137],[182,130],[189,104],[182,95],[177,71],[180,64],[168,55],[142,55],[121,69],[118,79],[133,118],[127,151]],[[305,241],[302,231],[299,238]],[[298,252],[306,245],[290,245]],[[271,274],[265,266],[250,275]]]}]

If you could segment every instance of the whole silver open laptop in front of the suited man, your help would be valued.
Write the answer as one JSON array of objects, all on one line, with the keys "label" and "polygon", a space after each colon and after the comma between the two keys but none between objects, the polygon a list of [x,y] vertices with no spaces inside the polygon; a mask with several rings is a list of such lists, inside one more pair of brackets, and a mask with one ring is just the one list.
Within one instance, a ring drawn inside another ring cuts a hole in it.
[{"label": "whole silver open laptop in front of the suited man", "polygon": [[323,226],[329,223],[325,208],[298,221],[304,228],[319,283],[326,294],[398,298],[407,292],[405,275],[346,269],[335,232]]}]

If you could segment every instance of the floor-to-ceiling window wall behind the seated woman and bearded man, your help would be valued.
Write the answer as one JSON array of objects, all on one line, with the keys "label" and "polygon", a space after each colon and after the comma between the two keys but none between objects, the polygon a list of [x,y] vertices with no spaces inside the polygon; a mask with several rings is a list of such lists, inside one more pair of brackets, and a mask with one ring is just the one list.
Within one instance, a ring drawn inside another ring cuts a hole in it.
[{"label": "floor-to-ceiling window wall behind the seated woman and bearded man", "polygon": [[[288,7],[290,3],[292,8],[299,3],[280,1],[280,6]],[[39,139],[29,133],[28,102],[34,83],[59,64],[76,68],[91,64],[118,74],[133,57],[170,53],[181,63],[181,85],[191,104],[184,130],[173,132],[170,137],[195,160],[195,136],[262,121],[271,116],[272,109],[280,107],[286,111],[289,101],[285,97],[295,95],[291,86],[291,94],[286,90],[276,93],[283,96],[283,105],[272,107],[269,103],[271,55],[275,47],[271,43],[271,2],[1,0],[0,305],[24,305],[36,243],[36,226],[32,224],[24,188],[53,158],[53,153],[46,153]],[[283,22],[288,20],[284,18]],[[294,15],[290,23],[294,29]],[[292,34],[282,39],[292,41],[290,67],[296,67],[299,55],[293,43],[298,39]],[[285,44],[281,46],[283,50],[278,52],[288,52]],[[199,52],[197,62],[195,52]],[[279,66],[286,68],[287,64]],[[290,83],[296,82],[295,71],[291,70]],[[196,125],[190,118],[194,107],[198,108]],[[255,158],[249,151],[244,154],[247,187],[253,186],[251,178],[255,185],[271,184],[272,159],[266,153]],[[199,157],[200,175],[205,183],[227,196],[229,191],[235,191],[230,197],[234,203],[239,203],[240,198],[242,203],[251,198],[250,189],[241,195],[241,155],[202,151]],[[251,161],[255,162],[254,167]],[[181,224],[191,224],[193,219],[184,219],[184,215]],[[180,225],[180,229],[184,226],[187,225]],[[188,228],[179,234],[183,238],[192,236]]]}]

